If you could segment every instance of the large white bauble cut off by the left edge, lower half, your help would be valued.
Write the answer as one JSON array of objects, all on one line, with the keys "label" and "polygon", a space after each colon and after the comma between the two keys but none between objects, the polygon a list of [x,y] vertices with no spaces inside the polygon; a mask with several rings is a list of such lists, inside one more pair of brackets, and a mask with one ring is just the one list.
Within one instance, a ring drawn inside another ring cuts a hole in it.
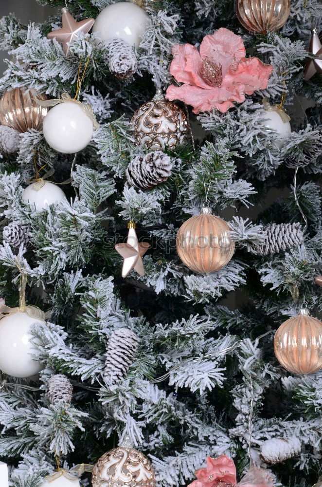
[{"label": "large white bauble cut off by the left edge, lower half", "polygon": [[[36,350],[30,333],[34,323],[43,323],[18,311],[0,319],[0,370],[14,377],[31,377],[42,369],[42,365],[32,355]],[[35,339],[36,342],[36,339]]]}]

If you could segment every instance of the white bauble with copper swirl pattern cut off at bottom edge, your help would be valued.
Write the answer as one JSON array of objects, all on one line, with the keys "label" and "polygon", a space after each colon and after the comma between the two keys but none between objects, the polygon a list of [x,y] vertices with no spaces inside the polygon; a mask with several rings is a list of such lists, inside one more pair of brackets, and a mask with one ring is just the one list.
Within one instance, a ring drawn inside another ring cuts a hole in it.
[{"label": "white bauble with copper swirl pattern cut off at bottom edge", "polygon": [[96,463],[92,487],[154,487],[155,474],[150,460],[132,448],[129,437],[107,451]]}]

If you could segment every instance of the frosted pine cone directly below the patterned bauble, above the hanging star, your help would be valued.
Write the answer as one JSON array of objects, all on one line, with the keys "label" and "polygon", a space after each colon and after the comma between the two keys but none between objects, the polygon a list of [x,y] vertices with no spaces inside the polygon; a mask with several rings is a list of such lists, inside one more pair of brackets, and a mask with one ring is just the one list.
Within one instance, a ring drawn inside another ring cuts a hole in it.
[{"label": "frosted pine cone directly below the patterned bauble, above the hanging star", "polygon": [[129,163],[126,178],[131,186],[149,189],[171,175],[173,163],[161,150],[154,150],[146,155],[138,155]]}]

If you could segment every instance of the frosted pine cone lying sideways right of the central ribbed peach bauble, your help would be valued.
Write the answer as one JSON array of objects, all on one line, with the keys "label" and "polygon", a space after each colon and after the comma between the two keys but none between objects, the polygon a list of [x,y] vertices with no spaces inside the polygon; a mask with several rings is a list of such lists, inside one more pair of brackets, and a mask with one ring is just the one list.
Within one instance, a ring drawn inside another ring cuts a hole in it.
[{"label": "frosted pine cone lying sideways right of the central ribbed peach bauble", "polygon": [[258,247],[256,251],[258,255],[277,254],[303,242],[300,223],[273,223],[268,225],[265,231],[265,243]]}]

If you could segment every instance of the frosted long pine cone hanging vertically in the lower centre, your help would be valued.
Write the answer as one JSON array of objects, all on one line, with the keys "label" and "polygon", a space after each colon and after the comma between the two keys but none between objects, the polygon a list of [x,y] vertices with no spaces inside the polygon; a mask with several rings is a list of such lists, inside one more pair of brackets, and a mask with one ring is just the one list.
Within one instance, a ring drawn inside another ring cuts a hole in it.
[{"label": "frosted long pine cone hanging vertically in the lower centre", "polygon": [[128,328],[113,331],[107,343],[104,371],[106,384],[116,384],[126,375],[138,344],[139,338]]}]

